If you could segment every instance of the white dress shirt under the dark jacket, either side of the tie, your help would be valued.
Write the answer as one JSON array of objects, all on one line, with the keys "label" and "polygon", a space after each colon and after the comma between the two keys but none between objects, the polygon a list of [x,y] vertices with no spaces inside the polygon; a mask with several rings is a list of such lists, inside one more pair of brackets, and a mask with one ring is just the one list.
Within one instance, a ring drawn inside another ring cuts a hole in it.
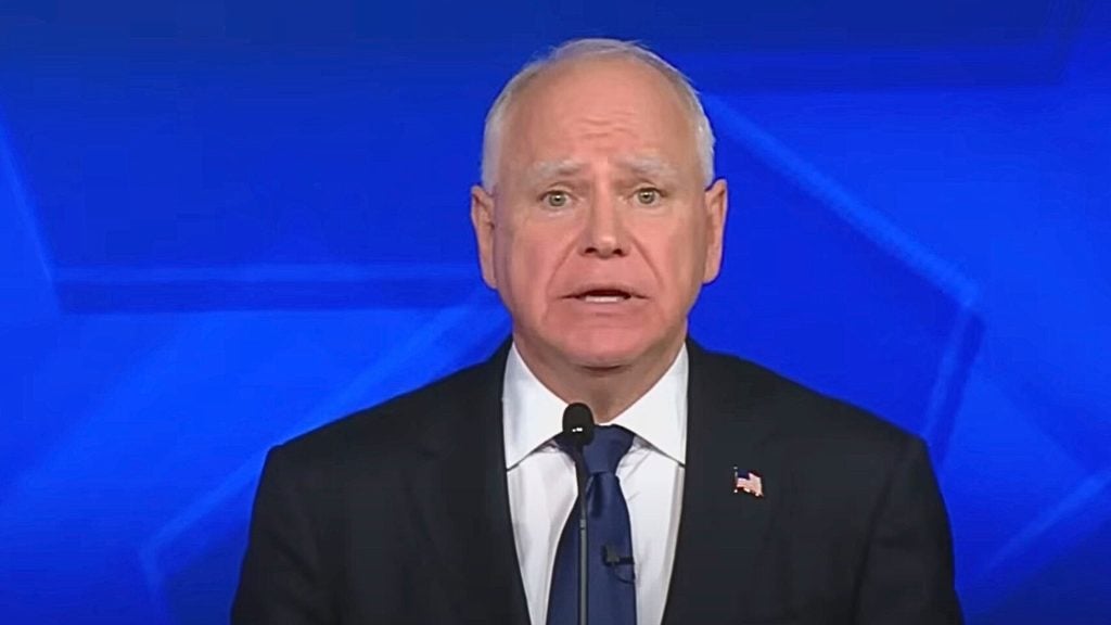
[{"label": "white dress shirt under the dark jacket, either side of the tie", "polygon": [[[632,431],[617,475],[629,505],[637,579],[637,623],[659,625],[671,582],[687,452],[687,347],[663,377],[612,425]],[[567,403],[529,370],[517,348],[506,364],[506,469],[513,538],[532,625],[548,618],[560,534],[574,505],[574,463],[552,437]]]}]

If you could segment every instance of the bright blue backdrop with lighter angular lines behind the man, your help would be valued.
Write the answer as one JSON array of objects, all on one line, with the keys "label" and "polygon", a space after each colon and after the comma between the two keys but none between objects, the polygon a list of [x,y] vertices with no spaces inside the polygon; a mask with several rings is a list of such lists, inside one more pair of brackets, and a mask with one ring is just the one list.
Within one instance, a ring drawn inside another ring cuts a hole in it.
[{"label": "bright blue backdrop with lighter angular lines behind the man", "polygon": [[929,439],[971,623],[1111,623],[1109,4],[0,2],[0,623],[224,622],[266,449],[506,335],[482,117],[597,34],[719,137],[694,335]]}]

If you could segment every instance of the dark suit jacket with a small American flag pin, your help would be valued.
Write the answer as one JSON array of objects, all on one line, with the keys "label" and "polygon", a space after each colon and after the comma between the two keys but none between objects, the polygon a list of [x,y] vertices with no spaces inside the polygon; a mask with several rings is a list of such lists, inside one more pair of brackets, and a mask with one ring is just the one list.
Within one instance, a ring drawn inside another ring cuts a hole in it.
[{"label": "dark suit jacket with a small American flag pin", "polygon": [[[688,348],[664,623],[961,623],[922,442]],[[506,486],[506,354],[271,450],[232,622],[528,625]],[[763,498],[733,492],[734,466],[762,477]]]}]

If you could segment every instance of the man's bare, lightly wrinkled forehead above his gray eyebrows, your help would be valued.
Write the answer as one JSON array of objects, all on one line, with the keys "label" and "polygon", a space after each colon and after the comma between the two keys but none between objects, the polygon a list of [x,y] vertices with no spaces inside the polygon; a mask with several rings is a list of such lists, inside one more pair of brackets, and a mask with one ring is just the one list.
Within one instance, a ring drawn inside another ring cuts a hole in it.
[{"label": "man's bare, lightly wrinkled forehead above his gray eyebrows", "polygon": [[691,116],[660,71],[623,58],[572,60],[547,68],[508,111],[499,168],[520,173],[537,163],[623,162],[698,169]]}]

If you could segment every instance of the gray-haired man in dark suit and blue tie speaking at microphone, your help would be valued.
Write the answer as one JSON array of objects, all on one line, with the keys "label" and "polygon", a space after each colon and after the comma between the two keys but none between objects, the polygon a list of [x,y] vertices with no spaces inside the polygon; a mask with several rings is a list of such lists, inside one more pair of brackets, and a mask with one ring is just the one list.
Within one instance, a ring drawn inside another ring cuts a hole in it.
[{"label": "gray-haired man in dark suit and blue tie speaking at microphone", "polygon": [[922,443],[688,338],[721,264],[712,149],[634,44],[514,77],[471,192],[511,343],[271,452],[233,622],[575,623],[578,460],[592,623],[961,623]]}]

